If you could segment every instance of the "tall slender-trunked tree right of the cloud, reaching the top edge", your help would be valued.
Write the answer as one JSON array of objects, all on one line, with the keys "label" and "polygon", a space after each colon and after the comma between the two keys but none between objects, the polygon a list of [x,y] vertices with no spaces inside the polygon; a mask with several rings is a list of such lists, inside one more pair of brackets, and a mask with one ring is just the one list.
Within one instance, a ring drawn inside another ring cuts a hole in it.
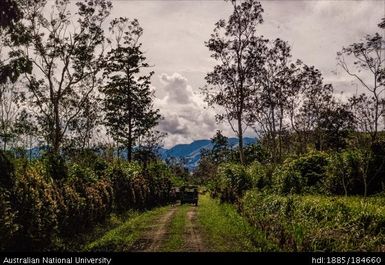
[{"label": "tall slender-trunked tree right of the cloud, reaching the top edge", "polygon": [[205,43],[219,64],[207,74],[207,85],[202,92],[209,106],[223,108],[224,113],[217,115],[217,121],[227,120],[237,134],[243,163],[243,134],[249,125],[245,114],[252,106],[253,75],[260,63],[260,53],[255,50],[263,49],[263,41],[256,36],[257,25],[263,22],[263,9],[255,0],[230,2],[233,13],[227,21],[221,19],[215,24],[211,38]]}]

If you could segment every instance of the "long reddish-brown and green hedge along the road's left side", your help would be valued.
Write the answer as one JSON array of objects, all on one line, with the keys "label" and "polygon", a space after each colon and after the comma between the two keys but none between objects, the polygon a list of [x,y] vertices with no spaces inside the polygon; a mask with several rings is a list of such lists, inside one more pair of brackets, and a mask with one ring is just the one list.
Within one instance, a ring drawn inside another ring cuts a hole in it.
[{"label": "long reddish-brown and green hedge along the road's left side", "polygon": [[149,164],[146,171],[137,163],[111,163],[107,169],[69,163],[65,177],[58,179],[49,163],[46,157],[16,163],[21,167],[16,171],[10,167],[9,176],[16,181],[10,190],[0,187],[0,250],[66,250],[74,235],[92,229],[114,210],[169,201],[171,173],[161,162]]}]

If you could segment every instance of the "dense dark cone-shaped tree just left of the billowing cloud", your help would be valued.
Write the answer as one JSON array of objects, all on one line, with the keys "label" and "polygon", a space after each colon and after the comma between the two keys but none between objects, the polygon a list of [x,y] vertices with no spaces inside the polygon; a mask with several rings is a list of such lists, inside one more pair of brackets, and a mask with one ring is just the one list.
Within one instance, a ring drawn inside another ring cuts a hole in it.
[{"label": "dense dark cone-shaped tree just left of the billowing cloud", "polygon": [[119,18],[111,22],[110,31],[115,34],[116,47],[107,54],[104,72],[108,79],[103,88],[105,123],[114,140],[127,148],[131,161],[137,140],[158,124],[160,115],[153,108],[153,72],[139,76],[149,67],[139,43],[143,29],[137,20]]}]

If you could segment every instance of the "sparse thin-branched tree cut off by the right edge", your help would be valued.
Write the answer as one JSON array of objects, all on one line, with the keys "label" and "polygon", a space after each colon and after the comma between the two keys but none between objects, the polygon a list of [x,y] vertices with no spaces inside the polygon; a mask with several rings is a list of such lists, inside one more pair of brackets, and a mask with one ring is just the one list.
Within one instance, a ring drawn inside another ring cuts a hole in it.
[{"label": "sparse thin-branched tree cut off by the right edge", "polygon": [[[378,140],[379,122],[385,113],[383,93],[385,91],[384,40],[378,33],[367,35],[361,42],[343,48],[338,55],[338,64],[350,76],[354,77],[366,90],[351,99],[353,111],[363,129],[370,133],[372,143]],[[347,59],[350,59],[349,61]],[[362,100],[365,105],[360,104]]]}]

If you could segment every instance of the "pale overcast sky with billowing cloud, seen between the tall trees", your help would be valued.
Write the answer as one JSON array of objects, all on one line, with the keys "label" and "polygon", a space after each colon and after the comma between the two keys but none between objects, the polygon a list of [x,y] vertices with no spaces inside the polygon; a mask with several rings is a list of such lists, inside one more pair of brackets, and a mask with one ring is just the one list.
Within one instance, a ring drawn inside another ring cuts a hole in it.
[{"label": "pale overcast sky with billowing cloud, seen between the tall trees", "polygon": [[[384,16],[384,1],[261,1],[265,12],[259,34],[282,38],[292,47],[293,59],[314,65],[337,92],[353,93],[356,85],[337,67],[336,53],[343,46],[377,32]],[[214,23],[232,9],[213,1],[113,1],[113,17],[137,18],[144,28],[143,48],[155,75],[156,107],[168,133],[166,147],[211,138],[217,129],[232,136],[227,124],[217,125],[213,110],[199,94],[204,76],[215,62],[204,42]],[[252,131],[248,132],[252,135]]]}]

